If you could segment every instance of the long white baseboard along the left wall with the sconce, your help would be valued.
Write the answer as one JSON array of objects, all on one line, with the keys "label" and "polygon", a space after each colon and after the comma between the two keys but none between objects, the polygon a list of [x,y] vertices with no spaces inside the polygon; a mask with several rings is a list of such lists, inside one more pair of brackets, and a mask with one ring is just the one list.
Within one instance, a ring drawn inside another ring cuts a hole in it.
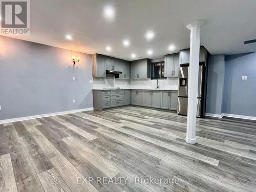
[{"label": "long white baseboard along the left wall with the sconce", "polygon": [[4,119],[4,120],[0,120],[0,124],[11,123],[11,122],[15,122],[15,121],[24,121],[24,120],[29,120],[29,119],[37,119],[37,118],[43,118],[43,117],[50,117],[50,116],[55,116],[55,115],[65,115],[65,114],[69,114],[69,113],[77,113],[77,112],[90,111],[90,110],[93,110],[93,108],[84,108],[84,109],[79,109],[79,110],[62,111],[62,112],[33,115],[33,116],[27,116],[27,117],[18,117],[18,118],[13,118],[13,119]]}]

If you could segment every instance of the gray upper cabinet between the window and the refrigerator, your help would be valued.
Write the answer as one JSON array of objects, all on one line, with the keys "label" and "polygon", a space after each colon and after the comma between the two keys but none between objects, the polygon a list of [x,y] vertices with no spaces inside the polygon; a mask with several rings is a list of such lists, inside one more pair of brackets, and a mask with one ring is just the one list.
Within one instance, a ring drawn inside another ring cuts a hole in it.
[{"label": "gray upper cabinet between the window and the refrigerator", "polygon": [[164,57],[164,76],[178,77],[180,53],[165,55]]}]

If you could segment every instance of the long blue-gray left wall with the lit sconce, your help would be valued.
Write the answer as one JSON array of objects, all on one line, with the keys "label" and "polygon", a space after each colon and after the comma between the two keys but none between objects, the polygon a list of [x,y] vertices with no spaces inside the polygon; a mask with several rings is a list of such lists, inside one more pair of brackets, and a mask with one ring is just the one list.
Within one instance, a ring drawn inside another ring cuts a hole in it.
[{"label": "long blue-gray left wall with the lit sconce", "polygon": [[91,79],[89,54],[0,36],[0,120],[92,108]]}]

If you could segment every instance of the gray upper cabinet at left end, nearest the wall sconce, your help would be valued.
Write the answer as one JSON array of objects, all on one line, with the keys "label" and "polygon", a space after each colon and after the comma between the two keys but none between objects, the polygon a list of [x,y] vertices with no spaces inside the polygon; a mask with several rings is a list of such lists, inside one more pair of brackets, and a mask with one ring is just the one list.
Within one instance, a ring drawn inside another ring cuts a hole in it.
[{"label": "gray upper cabinet at left end, nearest the wall sconce", "polygon": [[104,59],[105,59],[104,55],[93,54],[93,77],[106,76]]}]

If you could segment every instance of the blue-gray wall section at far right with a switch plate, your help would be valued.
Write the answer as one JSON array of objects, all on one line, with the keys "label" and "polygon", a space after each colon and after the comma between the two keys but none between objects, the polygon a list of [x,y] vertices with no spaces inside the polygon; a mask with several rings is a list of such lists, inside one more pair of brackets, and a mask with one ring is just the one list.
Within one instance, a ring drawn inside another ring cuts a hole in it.
[{"label": "blue-gray wall section at far right with a switch plate", "polygon": [[[223,113],[256,117],[256,52],[225,57]],[[248,80],[241,80],[248,76]]]}]

